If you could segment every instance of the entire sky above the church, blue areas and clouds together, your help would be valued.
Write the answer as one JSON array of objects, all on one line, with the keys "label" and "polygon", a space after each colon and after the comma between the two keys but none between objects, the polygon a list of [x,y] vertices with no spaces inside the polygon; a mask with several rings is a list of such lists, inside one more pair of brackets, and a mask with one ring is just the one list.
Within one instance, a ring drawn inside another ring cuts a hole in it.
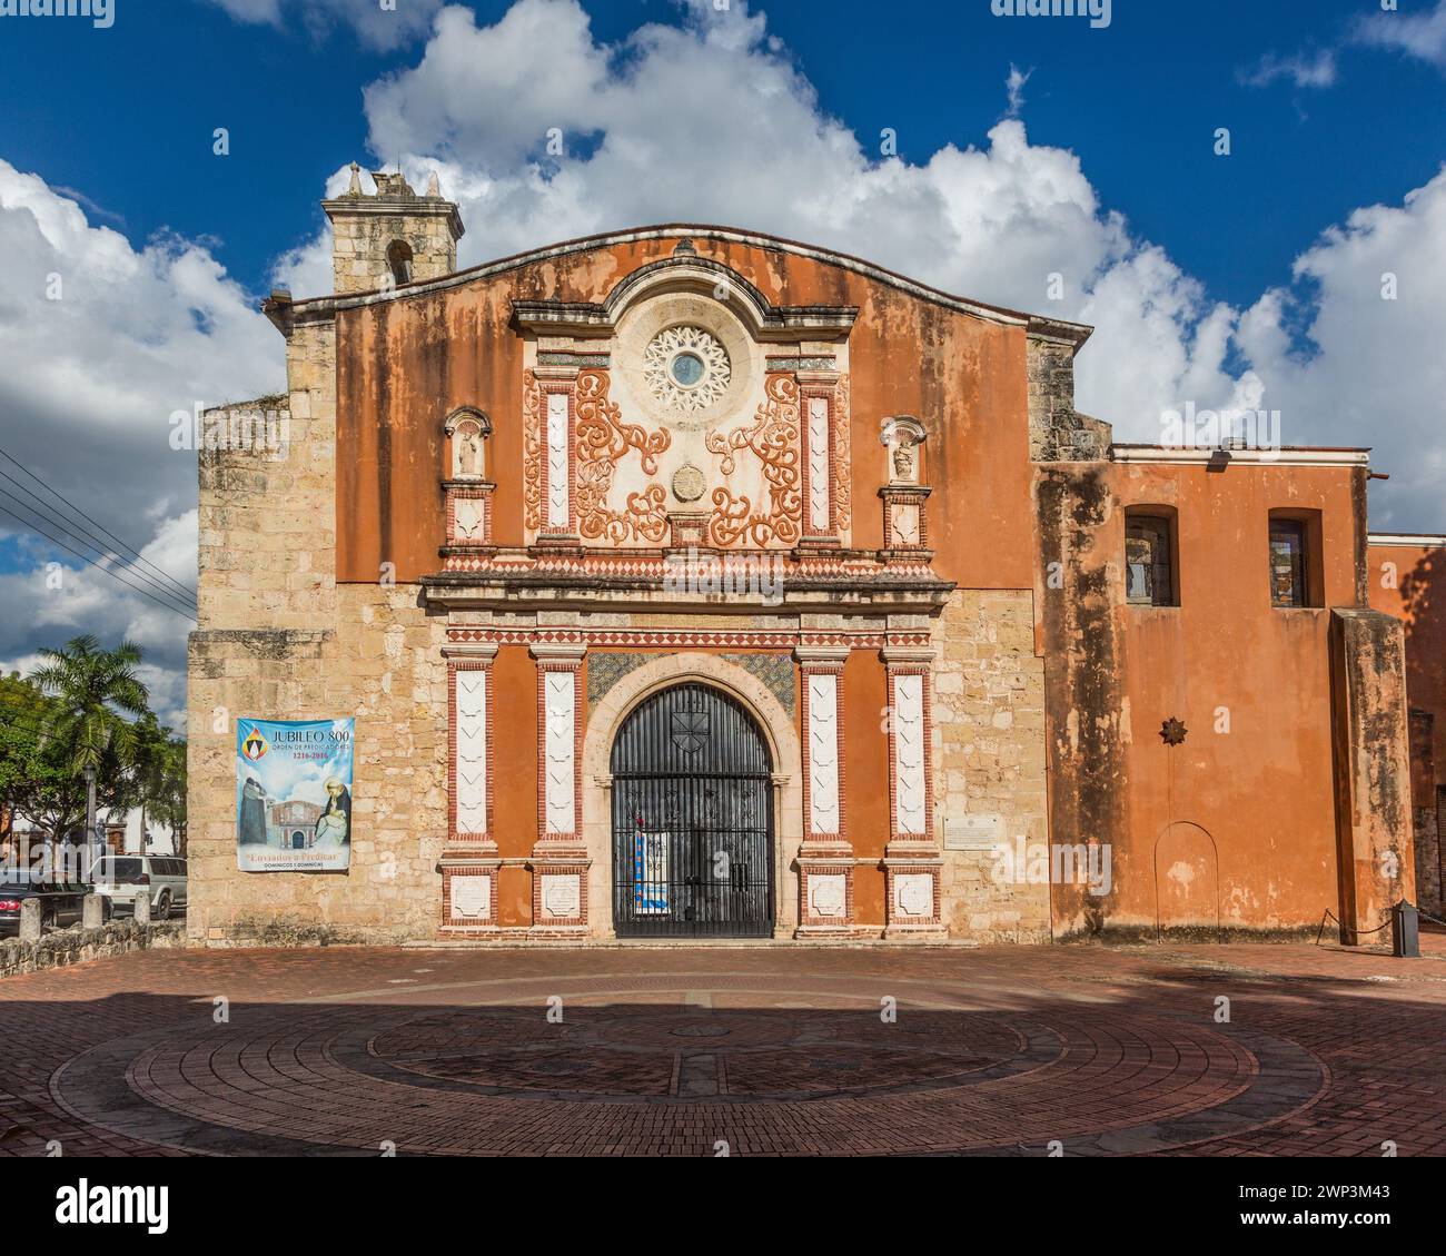
[{"label": "entire sky above the church, blue areas and clouds together", "polygon": [[[1092,323],[1079,404],[1119,438],[1186,402],[1278,408],[1287,443],[1375,446],[1378,528],[1446,531],[1446,0],[1113,0],[1103,29],[995,3],[0,16],[0,451],[194,586],[171,418],[281,386],[257,300],[328,287],[320,198],[401,161],[460,201],[463,265],[719,221]],[[189,625],[6,517],[0,601],[0,666],[127,634],[179,710]]]}]

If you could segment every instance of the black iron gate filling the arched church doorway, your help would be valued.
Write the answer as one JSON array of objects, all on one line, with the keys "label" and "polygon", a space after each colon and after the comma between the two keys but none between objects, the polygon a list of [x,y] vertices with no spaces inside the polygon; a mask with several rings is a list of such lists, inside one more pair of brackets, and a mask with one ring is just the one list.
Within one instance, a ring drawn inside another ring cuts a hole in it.
[{"label": "black iron gate filling the arched church doorway", "polygon": [[706,684],[646,699],[613,742],[613,923],[622,938],[774,932],[772,764]]}]

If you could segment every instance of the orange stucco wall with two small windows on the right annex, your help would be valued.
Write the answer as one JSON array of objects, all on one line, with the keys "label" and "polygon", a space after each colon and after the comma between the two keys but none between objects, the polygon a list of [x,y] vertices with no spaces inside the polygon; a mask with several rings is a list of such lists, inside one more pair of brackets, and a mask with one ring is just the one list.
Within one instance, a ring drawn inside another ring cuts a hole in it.
[{"label": "orange stucco wall with two small windows on the right annex", "polygon": [[[1086,787],[1124,799],[1089,806],[1113,832],[1111,926],[1290,929],[1338,907],[1333,787],[1332,606],[1355,606],[1364,472],[1348,467],[1112,464],[1109,502],[1090,538],[1109,603],[1103,676],[1051,703],[1056,773],[1089,780],[1070,745],[1106,726],[1116,773]],[[1131,606],[1124,593],[1125,509],[1176,512],[1178,606]],[[1275,609],[1268,583],[1271,509],[1320,512],[1319,609]],[[1047,657],[1057,669],[1061,658]],[[1184,744],[1161,737],[1167,719]],[[1069,894],[1060,920],[1074,928]]]}]

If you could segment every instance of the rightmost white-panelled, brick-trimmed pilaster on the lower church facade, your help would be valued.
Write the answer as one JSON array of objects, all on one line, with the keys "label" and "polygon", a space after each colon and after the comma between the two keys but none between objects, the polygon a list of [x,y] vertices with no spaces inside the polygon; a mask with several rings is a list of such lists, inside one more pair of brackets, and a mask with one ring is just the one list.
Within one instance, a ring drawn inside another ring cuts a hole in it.
[{"label": "rightmost white-panelled, brick-trimmed pilaster on the lower church facade", "polygon": [[934,651],[885,647],[889,695],[889,842],[885,938],[944,932],[943,855],[934,838]]}]

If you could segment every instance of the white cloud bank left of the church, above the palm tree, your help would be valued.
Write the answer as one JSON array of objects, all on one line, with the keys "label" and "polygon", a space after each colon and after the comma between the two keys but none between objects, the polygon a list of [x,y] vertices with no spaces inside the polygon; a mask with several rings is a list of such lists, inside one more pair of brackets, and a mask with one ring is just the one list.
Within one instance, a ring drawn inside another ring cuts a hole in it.
[{"label": "white cloud bank left of the church, above the palm tree", "polygon": [[[171,449],[171,414],[276,388],[281,337],[202,246],[168,236],[133,249],[3,161],[0,252],[0,449],[194,589],[195,456]],[[0,506],[84,548],[61,532],[55,518],[67,515],[42,488],[6,459],[0,472],[13,478],[0,479]],[[27,511],[36,499],[49,521]],[[93,528],[68,518],[72,532]],[[9,515],[0,554],[0,658],[13,664],[80,632],[129,637],[168,677],[158,693],[174,705],[162,716],[181,718],[185,619]],[[58,585],[51,559],[62,563]]]}]

